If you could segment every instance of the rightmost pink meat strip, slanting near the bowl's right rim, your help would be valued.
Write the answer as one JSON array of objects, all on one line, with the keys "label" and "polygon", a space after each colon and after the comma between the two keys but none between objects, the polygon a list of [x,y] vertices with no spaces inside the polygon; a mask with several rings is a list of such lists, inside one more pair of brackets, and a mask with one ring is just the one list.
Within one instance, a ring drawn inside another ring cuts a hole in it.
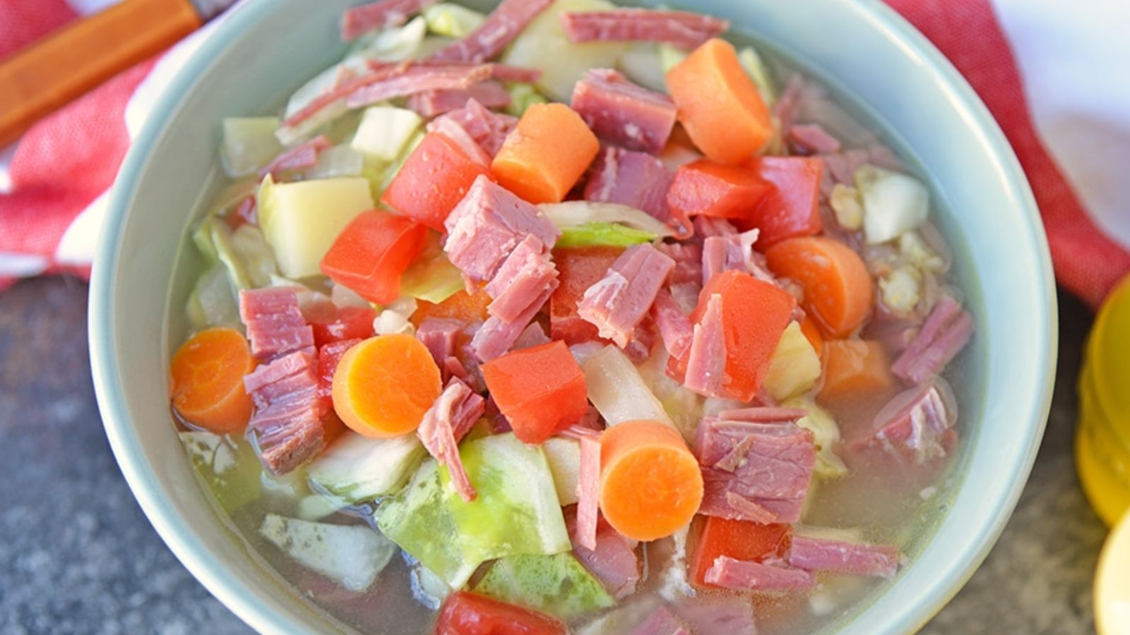
[{"label": "rightmost pink meat strip, slanting near the bowl's right rim", "polygon": [[890,365],[890,372],[911,383],[937,376],[973,337],[973,316],[942,295],[918,336]]}]

